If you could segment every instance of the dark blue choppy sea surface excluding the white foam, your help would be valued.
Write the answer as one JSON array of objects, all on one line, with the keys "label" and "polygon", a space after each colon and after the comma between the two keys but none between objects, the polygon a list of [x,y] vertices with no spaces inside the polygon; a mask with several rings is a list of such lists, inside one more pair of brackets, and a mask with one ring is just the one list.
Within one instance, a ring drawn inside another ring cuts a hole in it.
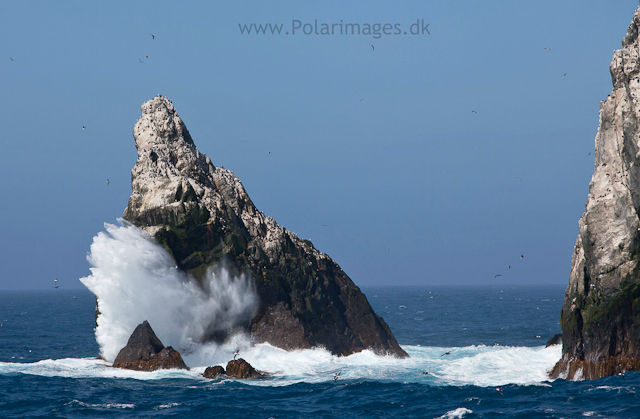
[{"label": "dark blue choppy sea surface excluding the white foam", "polygon": [[92,293],[1,291],[0,417],[640,417],[639,373],[547,378],[561,354],[545,343],[560,331],[563,286],[363,291],[410,358],[258,345],[241,355],[272,375],[246,381],[206,380],[207,365],[111,368],[96,359]]}]

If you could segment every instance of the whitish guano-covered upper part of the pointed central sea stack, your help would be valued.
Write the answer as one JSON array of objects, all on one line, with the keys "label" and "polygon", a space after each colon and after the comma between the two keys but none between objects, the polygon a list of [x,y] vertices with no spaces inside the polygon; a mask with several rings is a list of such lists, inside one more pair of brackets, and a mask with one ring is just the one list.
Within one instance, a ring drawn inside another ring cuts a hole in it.
[{"label": "whitish guano-covered upper part of the pointed central sea stack", "polygon": [[[279,242],[285,235],[313,257],[326,258],[308,242],[258,211],[240,179],[231,171],[214,166],[209,157],[198,151],[167,98],[156,96],[144,103],[141,109],[142,117],[133,130],[138,161],[131,171],[133,193],[129,210],[145,213],[175,208],[179,211],[185,205],[200,205],[207,209],[213,222],[219,218],[220,212],[229,208],[271,258],[276,257]],[[191,191],[197,200],[176,199]],[[154,236],[163,226],[142,228]]]}]

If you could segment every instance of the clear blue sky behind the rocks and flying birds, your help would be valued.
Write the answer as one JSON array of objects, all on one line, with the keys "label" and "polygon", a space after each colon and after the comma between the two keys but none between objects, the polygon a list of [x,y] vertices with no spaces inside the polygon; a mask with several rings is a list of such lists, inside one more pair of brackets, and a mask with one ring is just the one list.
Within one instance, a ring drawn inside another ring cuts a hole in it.
[{"label": "clear blue sky behind the rocks and flying birds", "polygon": [[[59,3],[0,3],[0,289],[82,287],[157,94],[358,285],[568,283],[636,1]],[[430,35],[238,26],[316,19]]]}]

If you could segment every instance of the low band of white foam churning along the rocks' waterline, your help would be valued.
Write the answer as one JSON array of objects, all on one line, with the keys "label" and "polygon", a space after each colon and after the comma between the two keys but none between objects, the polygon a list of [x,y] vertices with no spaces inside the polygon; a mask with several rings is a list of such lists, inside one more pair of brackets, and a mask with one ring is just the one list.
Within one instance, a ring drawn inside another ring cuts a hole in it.
[{"label": "low band of white foam churning along the rocks' waterline", "polygon": [[[560,345],[545,347],[468,346],[456,348],[403,346],[410,357],[399,359],[363,351],[334,356],[324,349],[287,352],[269,344],[240,351],[255,368],[270,373],[267,379],[241,380],[252,386],[279,387],[296,383],[353,383],[377,381],[420,383],[432,386],[497,387],[507,384],[549,385],[547,372],[560,359]],[[449,352],[449,355],[442,356]],[[218,365],[226,366],[230,356]],[[194,364],[197,365],[197,364]],[[44,360],[31,364],[0,362],[0,374],[41,376],[134,378],[138,380],[198,379],[207,365],[185,370],[153,372],[110,368],[95,359]],[[425,374],[428,372],[428,374]],[[336,379],[336,374],[340,373]]]}]

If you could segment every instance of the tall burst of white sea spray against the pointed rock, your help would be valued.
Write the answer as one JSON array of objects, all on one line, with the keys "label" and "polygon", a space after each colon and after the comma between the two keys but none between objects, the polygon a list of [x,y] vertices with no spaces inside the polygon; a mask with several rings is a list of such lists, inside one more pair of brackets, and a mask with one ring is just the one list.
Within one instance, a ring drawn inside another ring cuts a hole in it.
[{"label": "tall burst of white sea spray against the pointed rock", "polygon": [[203,341],[254,316],[258,297],[249,277],[234,277],[221,267],[209,270],[200,285],[137,227],[105,223],[105,229],[87,256],[91,275],[80,279],[98,300],[96,340],[104,359],[113,361],[144,320],[192,366],[220,362],[248,345],[242,334],[224,345]]}]

